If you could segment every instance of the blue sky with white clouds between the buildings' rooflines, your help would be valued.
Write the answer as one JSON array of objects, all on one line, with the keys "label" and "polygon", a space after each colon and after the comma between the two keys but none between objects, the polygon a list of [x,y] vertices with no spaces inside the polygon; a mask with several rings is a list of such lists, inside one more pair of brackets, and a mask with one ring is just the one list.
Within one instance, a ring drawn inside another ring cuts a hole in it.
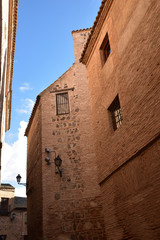
[{"label": "blue sky with white clouds between the buildings' rooflines", "polygon": [[19,0],[11,128],[2,149],[2,182],[25,196],[15,176],[26,179],[24,131],[36,96],[74,62],[73,30],[92,27],[101,0]]}]

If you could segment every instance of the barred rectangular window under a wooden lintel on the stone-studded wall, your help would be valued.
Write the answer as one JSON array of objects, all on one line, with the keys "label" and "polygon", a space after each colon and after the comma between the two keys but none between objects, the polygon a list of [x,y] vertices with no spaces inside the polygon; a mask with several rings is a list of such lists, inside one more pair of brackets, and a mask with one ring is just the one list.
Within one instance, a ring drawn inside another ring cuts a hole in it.
[{"label": "barred rectangular window under a wooden lintel on the stone-studded wall", "polygon": [[68,93],[56,95],[57,115],[69,113]]}]

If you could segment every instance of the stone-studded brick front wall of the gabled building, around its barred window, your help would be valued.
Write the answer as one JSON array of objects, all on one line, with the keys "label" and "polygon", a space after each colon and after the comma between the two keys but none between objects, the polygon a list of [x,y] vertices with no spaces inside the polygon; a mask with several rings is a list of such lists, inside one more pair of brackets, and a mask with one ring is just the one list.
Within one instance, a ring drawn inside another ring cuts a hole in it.
[{"label": "stone-studded brick front wall of the gabled building, around its barred window", "polygon": [[[76,49],[86,36],[88,31],[73,32]],[[56,115],[56,94],[62,92],[69,94],[70,113]],[[74,63],[41,94],[41,106],[44,239],[105,239],[85,66]],[[54,163],[46,164],[45,148],[60,155],[62,177]]]}]

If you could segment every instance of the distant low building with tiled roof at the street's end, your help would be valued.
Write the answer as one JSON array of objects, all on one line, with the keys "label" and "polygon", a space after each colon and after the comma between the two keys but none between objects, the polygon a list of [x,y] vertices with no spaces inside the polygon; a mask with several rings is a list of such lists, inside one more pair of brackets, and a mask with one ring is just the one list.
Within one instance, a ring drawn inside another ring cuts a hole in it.
[{"label": "distant low building with tiled roof at the street's end", "polygon": [[27,199],[14,197],[14,187],[0,187],[0,240],[27,239]]}]

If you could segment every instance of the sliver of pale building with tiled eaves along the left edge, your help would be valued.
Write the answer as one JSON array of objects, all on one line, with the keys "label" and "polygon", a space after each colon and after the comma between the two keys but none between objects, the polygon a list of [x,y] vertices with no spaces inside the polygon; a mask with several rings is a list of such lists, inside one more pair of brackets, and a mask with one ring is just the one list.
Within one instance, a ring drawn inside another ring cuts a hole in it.
[{"label": "sliver of pale building with tiled eaves along the left edge", "polygon": [[12,78],[17,29],[18,0],[0,0],[0,184],[1,148],[10,128]]}]

